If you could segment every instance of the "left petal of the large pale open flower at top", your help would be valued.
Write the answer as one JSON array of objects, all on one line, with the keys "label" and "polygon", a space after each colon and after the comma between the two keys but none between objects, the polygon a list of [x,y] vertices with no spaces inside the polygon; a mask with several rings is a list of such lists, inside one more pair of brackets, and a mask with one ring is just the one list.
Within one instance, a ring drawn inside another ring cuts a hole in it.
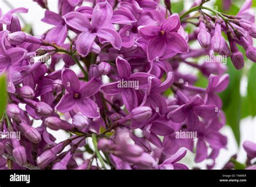
[{"label": "left petal of the large pale open flower at top", "polygon": [[66,24],[78,31],[88,31],[91,27],[90,21],[80,12],[69,12],[63,18]]}]

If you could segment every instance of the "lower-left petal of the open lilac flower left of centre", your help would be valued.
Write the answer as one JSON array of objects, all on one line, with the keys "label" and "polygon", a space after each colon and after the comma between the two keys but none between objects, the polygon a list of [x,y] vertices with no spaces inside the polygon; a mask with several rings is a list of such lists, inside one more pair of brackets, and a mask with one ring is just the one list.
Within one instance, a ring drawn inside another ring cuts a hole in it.
[{"label": "lower-left petal of the open lilac flower left of centre", "polygon": [[56,109],[60,112],[69,112],[71,111],[76,104],[76,100],[73,99],[73,95],[70,93],[65,94],[62,99],[60,99],[59,103],[56,106]]}]

